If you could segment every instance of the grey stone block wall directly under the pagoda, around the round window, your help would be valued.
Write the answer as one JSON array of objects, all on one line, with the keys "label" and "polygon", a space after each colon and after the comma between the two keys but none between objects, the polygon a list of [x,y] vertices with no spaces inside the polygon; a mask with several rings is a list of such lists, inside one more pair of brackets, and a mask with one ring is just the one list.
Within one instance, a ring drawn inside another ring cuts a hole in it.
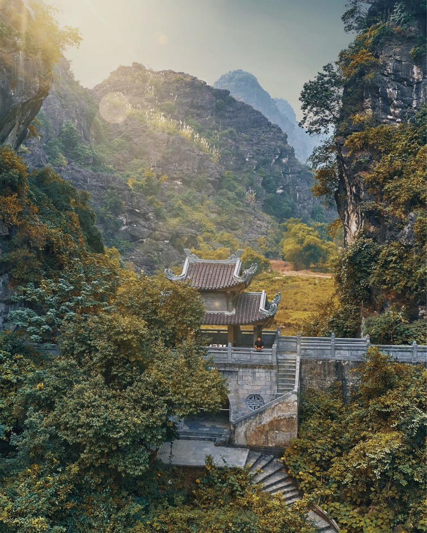
[{"label": "grey stone block wall directly under the pagoda, around the round window", "polygon": [[269,403],[276,398],[276,365],[234,365],[232,363],[216,364],[224,377],[227,377],[230,400],[230,420],[251,413],[245,400],[251,394],[258,394]]}]

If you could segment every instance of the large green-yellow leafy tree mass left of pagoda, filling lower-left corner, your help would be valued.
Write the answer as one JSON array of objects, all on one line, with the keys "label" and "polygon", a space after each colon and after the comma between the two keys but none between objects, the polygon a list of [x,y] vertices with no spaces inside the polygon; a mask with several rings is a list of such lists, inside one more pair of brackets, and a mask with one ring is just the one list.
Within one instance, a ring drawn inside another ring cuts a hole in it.
[{"label": "large green-yellow leafy tree mass left of pagoda, filling lower-left corner", "polygon": [[157,449],[176,437],[172,416],[218,410],[226,392],[198,341],[202,315],[195,289],[128,274],[108,309],[63,325],[59,356],[36,365],[0,338],[0,372],[10,376],[0,411],[2,531],[115,524],[124,533],[148,511]]}]

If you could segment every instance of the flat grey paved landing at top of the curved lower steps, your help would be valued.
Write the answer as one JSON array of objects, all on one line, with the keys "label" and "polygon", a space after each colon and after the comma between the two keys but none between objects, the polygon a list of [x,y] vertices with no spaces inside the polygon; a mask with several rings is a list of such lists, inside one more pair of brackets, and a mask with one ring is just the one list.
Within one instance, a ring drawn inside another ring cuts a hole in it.
[{"label": "flat grey paved landing at top of the curved lower steps", "polygon": [[[157,457],[164,463],[169,463],[171,443],[165,442]],[[172,464],[175,466],[205,466],[206,455],[211,455],[214,463],[222,466],[225,459],[229,466],[243,467],[249,450],[246,448],[228,448],[215,446],[212,441],[204,440],[175,440],[172,446]]]}]

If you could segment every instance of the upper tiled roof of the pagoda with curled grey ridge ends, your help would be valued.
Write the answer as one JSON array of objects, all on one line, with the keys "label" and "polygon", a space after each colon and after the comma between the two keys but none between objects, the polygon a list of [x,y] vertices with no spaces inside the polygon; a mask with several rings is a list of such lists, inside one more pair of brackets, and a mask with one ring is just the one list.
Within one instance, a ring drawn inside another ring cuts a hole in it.
[{"label": "upper tiled roof of the pagoda with curled grey ridge ends", "polygon": [[238,250],[228,259],[216,261],[199,259],[188,248],[184,252],[187,257],[182,273],[175,276],[172,270],[166,269],[165,276],[172,281],[188,280],[189,284],[198,290],[226,290],[239,285],[247,287],[257,269],[257,265],[253,264],[243,270],[240,260],[243,250]]}]

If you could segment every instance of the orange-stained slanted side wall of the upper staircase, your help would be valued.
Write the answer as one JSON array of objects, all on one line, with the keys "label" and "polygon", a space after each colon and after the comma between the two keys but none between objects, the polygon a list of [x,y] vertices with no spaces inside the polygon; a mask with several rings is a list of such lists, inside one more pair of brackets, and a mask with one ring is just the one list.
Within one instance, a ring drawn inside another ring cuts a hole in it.
[{"label": "orange-stained slanted side wall of the upper staircase", "polygon": [[297,436],[298,397],[289,392],[232,424],[231,441],[249,448],[281,448]]}]

